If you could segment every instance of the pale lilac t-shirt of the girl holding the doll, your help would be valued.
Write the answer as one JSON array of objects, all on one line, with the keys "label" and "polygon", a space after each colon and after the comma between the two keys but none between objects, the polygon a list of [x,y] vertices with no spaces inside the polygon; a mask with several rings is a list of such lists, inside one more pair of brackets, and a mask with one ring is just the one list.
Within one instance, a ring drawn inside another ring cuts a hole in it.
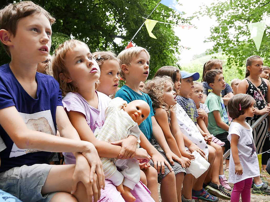
[{"label": "pale lilac t-shirt of the girl holding the doll", "polygon": [[[66,111],[77,111],[85,115],[85,119],[90,129],[94,132],[96,128],[101,128],[105,121],[105,109],[111,99],[104,93],[96,91],[99,104],[97,109],[85,100],[79,93],[68,93],[63,98],[63,106]],[[75,164],[76,160],[72,153],[63,153],[66,164]]]}]

